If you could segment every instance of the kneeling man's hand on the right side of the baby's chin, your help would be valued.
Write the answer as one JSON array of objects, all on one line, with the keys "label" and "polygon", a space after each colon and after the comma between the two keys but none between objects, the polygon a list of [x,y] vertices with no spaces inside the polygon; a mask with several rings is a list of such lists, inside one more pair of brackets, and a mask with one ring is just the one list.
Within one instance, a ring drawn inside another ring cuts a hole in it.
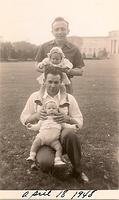
[{"label": "kneeling man's hand on the right side of the baby's chin", "polygon": [[70,117],[63,113],[58,113],[56,116],[53,116],[53,119],[55,122],[57,122],[59,124],[68,123],[70,121]]}]

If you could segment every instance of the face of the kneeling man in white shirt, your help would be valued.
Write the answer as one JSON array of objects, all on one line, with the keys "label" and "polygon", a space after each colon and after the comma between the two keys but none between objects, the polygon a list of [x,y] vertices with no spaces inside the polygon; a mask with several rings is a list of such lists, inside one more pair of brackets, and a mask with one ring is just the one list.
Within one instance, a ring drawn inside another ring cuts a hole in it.
[{"label": "face of the kneeling man in white shirt", "polygon": [[55,96],[60,89],[61,85],[61,77],[60,75],[53,75],[53,74],[48,74],[45,80],[45,86],[47,89],[47,93],[50,96]]}]

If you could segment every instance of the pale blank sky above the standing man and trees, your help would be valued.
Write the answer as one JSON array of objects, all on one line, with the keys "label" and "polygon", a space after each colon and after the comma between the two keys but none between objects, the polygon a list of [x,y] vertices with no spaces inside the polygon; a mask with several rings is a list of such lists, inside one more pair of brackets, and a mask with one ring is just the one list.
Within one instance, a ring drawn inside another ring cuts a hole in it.
[{"label": "pale blank sky above the standing man and trees", "polygon": [[1,40],[41,44],[53,38],[57,16],[69,21],[70,36],[107,36],[119,30],[119,0],[0,0]]}]

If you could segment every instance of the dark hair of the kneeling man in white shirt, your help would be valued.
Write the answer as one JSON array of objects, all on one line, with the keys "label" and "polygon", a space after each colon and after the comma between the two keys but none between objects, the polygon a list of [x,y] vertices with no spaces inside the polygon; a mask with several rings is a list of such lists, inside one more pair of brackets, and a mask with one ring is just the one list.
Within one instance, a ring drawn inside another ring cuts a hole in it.
[{"label": "dark hair of the kneeling man in white shirt", "polygon": [[44,76],[45,76],[45,79],[47,78],[47,75],[48,74],[53,74],[53,75],[60,75],[61,77],[61,81],[63,79],[63,74],[62,74],[62,71],[61,69],[59,69],[58,67],[54,67],[53,65],[49,65],[47,64],[45,66],[45,71],[44,71]]}]

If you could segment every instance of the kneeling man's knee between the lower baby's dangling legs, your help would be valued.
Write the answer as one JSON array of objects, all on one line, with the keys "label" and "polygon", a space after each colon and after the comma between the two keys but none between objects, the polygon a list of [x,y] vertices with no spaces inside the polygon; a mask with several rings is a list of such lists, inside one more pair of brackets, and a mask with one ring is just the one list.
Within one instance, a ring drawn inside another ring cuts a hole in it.
[{"label": "kneeling man's knee between the lower baby's dangling legs", "polygon": [[43,146],[37,152],[36,160],[44,172],[49,172],[54,164],[55,152],[48,146]]}]

